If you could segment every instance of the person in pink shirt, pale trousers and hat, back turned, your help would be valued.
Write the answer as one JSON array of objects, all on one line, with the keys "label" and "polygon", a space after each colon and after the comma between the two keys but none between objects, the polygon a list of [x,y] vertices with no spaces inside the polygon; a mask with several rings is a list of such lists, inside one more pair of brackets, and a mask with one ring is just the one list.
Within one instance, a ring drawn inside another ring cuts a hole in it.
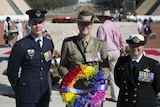
[{"label": "person in pink shirt, pale trousers and hat, back turned", "polygon": [[110,86],[111,98],[106,100],[117,101],[119,88],[114,82],[114,66],[119,56],[123,56],[125,52],[125,40],[123,38],[122,30],[119,25],[112,22],[110,11],[104,11],[102,14],[103,24],[98,27],[97,38],[105,41],[106,50],[108,51],[108,61],[110,69]]}]

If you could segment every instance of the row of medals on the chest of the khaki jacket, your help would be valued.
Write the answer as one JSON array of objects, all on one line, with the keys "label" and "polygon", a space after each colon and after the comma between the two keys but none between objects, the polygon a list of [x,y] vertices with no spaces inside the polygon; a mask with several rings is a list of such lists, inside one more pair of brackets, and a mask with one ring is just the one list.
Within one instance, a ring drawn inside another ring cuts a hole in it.
[{"label": "row of medals on the chest of the khaki jacket", "polygon": [[101,54],[100,52],[85,53],[85,58],[87,62],[100,61]]}]

